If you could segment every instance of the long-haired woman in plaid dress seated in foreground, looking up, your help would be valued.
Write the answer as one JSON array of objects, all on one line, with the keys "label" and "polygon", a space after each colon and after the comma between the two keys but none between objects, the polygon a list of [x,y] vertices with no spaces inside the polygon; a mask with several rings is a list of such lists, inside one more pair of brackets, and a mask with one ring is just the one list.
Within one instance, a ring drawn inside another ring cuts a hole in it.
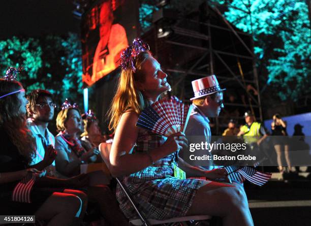
[{"label": "long-haired woman in plaid dress seated in foreground, looking up", "polygon": [[[168,138],[135,124],[140,112],[170,89],[167,74],[148,51],[134,40],[121,56],[121,76],[110,109],[110,129],[115,136],[110,152],[110,172],[119,177],[147,218],[167,219],[185,215],[221,216],[223,225],[253,225],[244,191],[226,183],[199,179],[177,179],[178,150],[186,147],[184,134]],[[195,170],[195,169],[190,169]],[[224,169],[202,171],[198,176],[225,178]],[[128,218],[136,212],[125,193],[117,187],[117,200]]]}]

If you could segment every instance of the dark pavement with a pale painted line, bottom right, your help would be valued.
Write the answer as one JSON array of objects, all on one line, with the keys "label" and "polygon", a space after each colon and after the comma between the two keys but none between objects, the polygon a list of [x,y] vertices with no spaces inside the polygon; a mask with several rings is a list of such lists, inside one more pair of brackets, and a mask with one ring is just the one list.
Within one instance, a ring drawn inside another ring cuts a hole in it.
[{"label": "dark pavement with a pale painted line, bottom right", "polygon": [[264,186],[245,184],[256,226],[311,226],[311,179],[308,173],[283,180],[274,173]]}]

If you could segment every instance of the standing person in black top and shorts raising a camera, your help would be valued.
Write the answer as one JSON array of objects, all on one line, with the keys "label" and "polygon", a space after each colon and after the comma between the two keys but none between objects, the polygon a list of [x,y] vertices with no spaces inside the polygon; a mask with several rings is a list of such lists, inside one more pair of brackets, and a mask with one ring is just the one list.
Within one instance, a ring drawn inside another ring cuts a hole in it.
[{"label": "standing person in black top and shorts raising a camera", "polygon": [[291,171],[292,167],[289,156],[289,144],[287,137],[285,137],[288,136],[286,132],[286,121],[284,121],[278,113],[273,115],[272,119],[273,121],[271,122],[271,130],[272,136],[274,136],[272,138],[272,143],[277,155],[276,159],[278,170],[280,173],[284,172],[284,167],[282,164],[282,155],[284,150],[288,170]]}]

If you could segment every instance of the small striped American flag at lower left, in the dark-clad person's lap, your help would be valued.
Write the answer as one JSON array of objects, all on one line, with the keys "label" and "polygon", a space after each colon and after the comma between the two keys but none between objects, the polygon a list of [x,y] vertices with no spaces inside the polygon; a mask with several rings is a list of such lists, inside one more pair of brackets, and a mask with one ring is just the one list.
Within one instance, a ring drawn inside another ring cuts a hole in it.
[{"label": "small striped American flag at lower left, in the dark-clad person's lap", "polygon": [[31,203],[30,191],[32,191],[36,175],[28,173],[14,188],[12,200],[20,203]]}]

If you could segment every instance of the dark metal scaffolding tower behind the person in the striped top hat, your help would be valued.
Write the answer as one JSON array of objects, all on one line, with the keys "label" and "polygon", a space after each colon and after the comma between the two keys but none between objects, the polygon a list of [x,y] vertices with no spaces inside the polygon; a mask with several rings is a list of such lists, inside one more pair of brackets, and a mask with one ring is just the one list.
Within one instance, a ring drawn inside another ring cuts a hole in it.
[{"label": "dark metal scaffolding tower behind the person in the striped top hat", "polygon": [[[236,108],[239,115],[230,115],[230,118],[240,122],[243,120],[241,113],[246,109],[262,121],[252,35],[230,24],[217,5],[203,7],[194,15],[179,16],[169,28],[165,18],[158,20],[142,38],[170,74],[172,94],[180,99],[189,101],[192,98],[191,81],[212,74],[217,76],[222,87],[227,88],[224,113],[215,120],[216,134],[227,124],[226,108]],[[171,34],[159,38],[158,33],[163,29],[170,29]],[[232,101],[228,93],[235,95],[237,100]]]}]

